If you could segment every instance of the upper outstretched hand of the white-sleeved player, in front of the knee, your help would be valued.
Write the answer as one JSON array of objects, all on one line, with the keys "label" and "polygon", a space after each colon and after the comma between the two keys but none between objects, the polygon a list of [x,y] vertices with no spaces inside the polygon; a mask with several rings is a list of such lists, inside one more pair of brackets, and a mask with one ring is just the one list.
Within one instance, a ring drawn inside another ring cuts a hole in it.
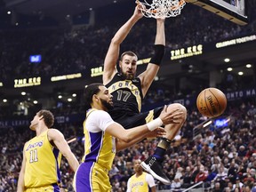
[{"label": "upper outstretched hand of the white-sleeved player, in front of the knee", "polygon": [[180,124],[182,122],[183,112],[179,108],[170,111],[167,111],[167,106],[165,105],[159,118],[161,118],[163,124]]}]

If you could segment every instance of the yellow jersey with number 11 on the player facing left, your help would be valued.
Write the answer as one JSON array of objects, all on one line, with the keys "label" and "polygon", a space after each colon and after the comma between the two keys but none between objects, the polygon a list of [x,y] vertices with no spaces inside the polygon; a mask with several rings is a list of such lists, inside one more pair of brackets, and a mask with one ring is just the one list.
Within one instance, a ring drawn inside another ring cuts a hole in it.
[{"label": "yellow jersey with number 11 on the player facing left", "polygon": [[47,132],[48,130],[28,140],[24,146],[25,188],[38,188],[60,183],[60,151],[49,142]]}]

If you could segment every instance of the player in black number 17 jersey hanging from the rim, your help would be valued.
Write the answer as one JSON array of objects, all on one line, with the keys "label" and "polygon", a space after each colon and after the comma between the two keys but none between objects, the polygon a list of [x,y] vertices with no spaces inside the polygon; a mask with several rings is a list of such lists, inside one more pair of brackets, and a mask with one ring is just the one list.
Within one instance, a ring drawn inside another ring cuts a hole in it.
[{"label": "player in black number 17 jersey hanging from the rim", "polygon": [[[163,110],[163,108],[155,108],[154,110],[140,113],[141,101],[148,92],[148,88],[152,84],[164,57],[165,34],[163,19],[156,20],[155,55],[152,56],[147,69],[138,77],[135,77],[138,58],[134,52],[130,51],[124,52],[120,57],[120,72],[116,69],[121,43],[132,29],[132,26],[143,17],[138,6],[140,7],[141,4],[137,5],[132,17],[124,23],[112,38],[104,61],[103,84],[113,94],[114,102],[114,109],[110,110],[109,114],[114,121],[122,124],[126,129],[152,121]],[[169,105],[167,111],[176,114],[176,116],[172,124],[164,127],[167,133],[166,138],[160,140],[155,154],[141,163],[145,170],[164,184],[170,184],[171,182],[160,168],[160,164],[164,161],[164,154],[169,148],[171,140],[180,131],[187,117],[186,108],[178,103]]]}]

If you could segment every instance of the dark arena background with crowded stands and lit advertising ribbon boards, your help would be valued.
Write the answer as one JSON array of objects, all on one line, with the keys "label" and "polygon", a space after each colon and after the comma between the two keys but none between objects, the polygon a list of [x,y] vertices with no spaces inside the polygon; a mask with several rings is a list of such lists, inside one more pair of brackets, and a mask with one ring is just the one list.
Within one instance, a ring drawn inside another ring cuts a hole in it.
[{"label": "dark arena background with crowded stands and lit advertising ribbon boards", "polygon": [[[134,6],[127,0],[0,1],[1,192],[16,189],[22,148],[34,135],[28,126],[41,108],[52,110],[54,127],[67,140],[76,138],[70,147],[81,160],[84,86],[101,82],[108,44]],[[157,183],[158,190],[184,191],[196,184],[199,164],[204,164],[208,175],[221,174],[194,190],[217,191],[215,184],[220,183],[221,190],[228,191],[228,182],[236,184],[238,179],[244,188],[253,188],[256,1],[248,1],[247,8],[249,23],[245,26],[193,4],[186,4],[180,16],[165,20],[164,63],[142,110],[180,102],[188,108],[188,121],[180,132],[182,140],[173,143],[164,162],[172,185]],[[147,66],[155,34],[156,20],[143,18],[122,44],[121,52],[138,53],[138,74]],[[225,92],[228,108],[207,124],[211,120],[198,114],[196,96],[210,86]],[[109,175],[113,191],[125,191],[132,159],[147,158],[156,142],[144,140],[116,155]],[[219,167],[224,167],[224,176]],[[63,190],[73,191],[73,173],[64,159],[61,172]]]}]

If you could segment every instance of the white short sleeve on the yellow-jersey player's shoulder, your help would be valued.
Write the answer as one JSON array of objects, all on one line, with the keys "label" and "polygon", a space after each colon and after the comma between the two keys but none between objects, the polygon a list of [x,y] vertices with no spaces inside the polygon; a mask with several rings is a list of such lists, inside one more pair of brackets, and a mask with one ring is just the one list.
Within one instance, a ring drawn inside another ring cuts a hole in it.
[{"label": "white short sleeve on the yellow-jersey player's shoulder", "polygon": [[106,111],[95,110],[87,117],[85,128],[89,132],[105,132],[108,125],[114,123],[115,122]]}]

